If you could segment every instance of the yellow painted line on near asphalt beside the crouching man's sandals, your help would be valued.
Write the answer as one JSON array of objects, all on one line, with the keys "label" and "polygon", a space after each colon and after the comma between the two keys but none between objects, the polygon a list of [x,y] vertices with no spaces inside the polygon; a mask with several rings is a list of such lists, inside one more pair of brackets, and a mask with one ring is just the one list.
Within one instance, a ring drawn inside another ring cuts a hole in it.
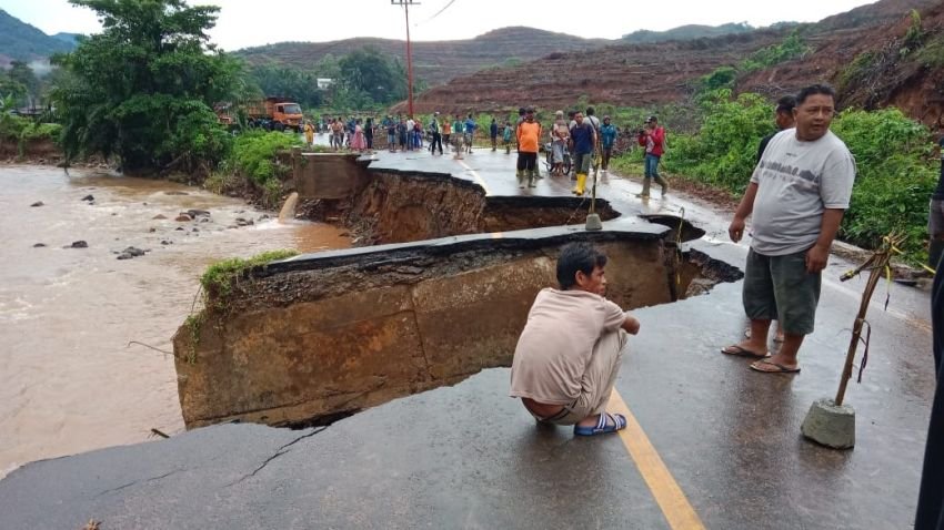
[{"label": "yellow painted line on near asphalt beside the crouching man's sandals", "polygon": [[682,488],[675,482],[672,473],[669,472],[669,468],[665,467],[665,462],[652,447],[649,437],[645,436],[635,416],[630,411],[630,407],[626,406],[623,397],[615,388],[613,394],[610,395],[606,411],[619,412],[626,417],[626,428],[619,432],[620,439],[623,440],[623,445],[630,451],[630,456],[646,486],[649,486],[649,490],[652,491],[659,508],[662,509],[662,514],[665,516],[669,526],[673,530],[703,530],[705,527],[699,514],[695,513],[695,509],[689,503]]}]

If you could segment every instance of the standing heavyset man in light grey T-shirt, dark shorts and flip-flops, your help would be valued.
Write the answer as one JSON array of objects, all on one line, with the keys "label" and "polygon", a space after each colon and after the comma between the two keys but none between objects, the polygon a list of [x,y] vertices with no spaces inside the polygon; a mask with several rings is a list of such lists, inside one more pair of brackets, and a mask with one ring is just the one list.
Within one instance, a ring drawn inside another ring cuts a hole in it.
[{"label": "standing heavyset man in light grey T-shirt, dark shorts and flip-flops", "polygon": [[[743,292],[751,338],[722,353],[760,358],[751,368],[762,373],[800,371],[796,357],[813,333],[822,272],[855,181],[852,153],[830,132],[833,89],[803,89],[793,114],[796,128],[770,141],[727,228],[731,241],[741,241],[753,213]],[[773,357],[766,351],[771,320],[784,330]]]}]

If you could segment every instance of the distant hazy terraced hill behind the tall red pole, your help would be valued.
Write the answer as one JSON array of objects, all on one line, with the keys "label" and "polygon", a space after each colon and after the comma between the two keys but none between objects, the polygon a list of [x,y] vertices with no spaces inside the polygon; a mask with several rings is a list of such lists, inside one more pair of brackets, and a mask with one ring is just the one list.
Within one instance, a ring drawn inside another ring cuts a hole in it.
[{"label": "distant hazy terraced hill behind the tall red pole", "polygon": [[[549,51],[591,50],[612,43],[605,39],[582,39],[534,28],[502,28],[474,39],[413,42],[413,69],[430,85],[479,70],[531,61]],[[233,52],[250,64],[281,64],[310,69],[327,54],[343,55],[374,47],[405,64],[405,42],[393,39],[356,38],[331,42],[280,42]]]}]

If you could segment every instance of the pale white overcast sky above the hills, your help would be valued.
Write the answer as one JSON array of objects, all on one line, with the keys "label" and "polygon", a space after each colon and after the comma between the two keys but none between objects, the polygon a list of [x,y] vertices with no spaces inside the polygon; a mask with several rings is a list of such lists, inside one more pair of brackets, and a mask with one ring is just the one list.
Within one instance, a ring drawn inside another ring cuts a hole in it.
[{"label": "pale white overcast sky above the hills", "polygon": [[[224,50],[351,37],[403,39],[403,9],[389,0],[193,0],[220,6],[212,41]],[[471,39],[508,26],[617,39],[639,29],[779,21],[813,22],[871,0],[421,0],[410,9],[414,40]],[[52,34],[100,30],[91,10],[67,0],[0,0],[0,8]]]}]

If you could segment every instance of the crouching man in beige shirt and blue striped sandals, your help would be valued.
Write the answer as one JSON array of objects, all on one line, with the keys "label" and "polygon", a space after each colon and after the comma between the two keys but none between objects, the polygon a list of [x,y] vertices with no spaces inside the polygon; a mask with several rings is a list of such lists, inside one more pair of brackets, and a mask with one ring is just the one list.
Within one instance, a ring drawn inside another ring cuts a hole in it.
[{"label": "crouching man in beige shirt and blue striped sandals", "polygon": [[511,396],[539,421],[573,425],[592,436],[626,427],[626,418],[607,414],[626,333],[640,323],[603,297],[606,256],[574,243],[558,259],[560,291],[542,289],[531,306],[511,366]]}]

